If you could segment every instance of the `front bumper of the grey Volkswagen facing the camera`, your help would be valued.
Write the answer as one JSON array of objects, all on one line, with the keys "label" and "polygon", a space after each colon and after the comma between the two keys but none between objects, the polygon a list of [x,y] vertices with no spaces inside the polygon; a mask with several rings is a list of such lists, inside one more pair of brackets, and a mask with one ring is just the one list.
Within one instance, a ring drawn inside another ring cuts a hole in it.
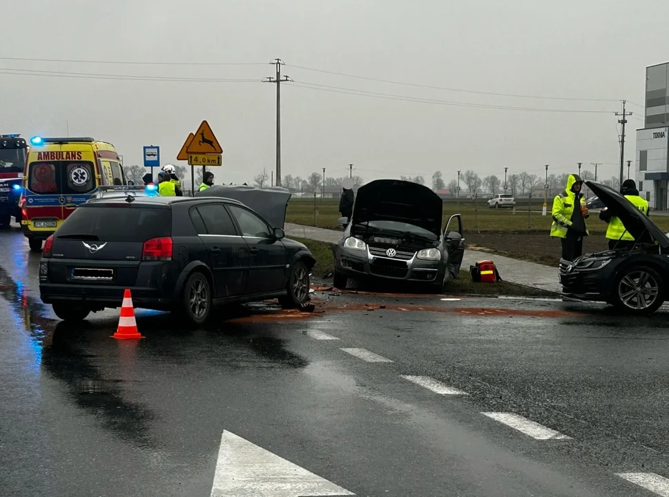
[{"label": "front bumper of the grey Volkswagen facing the camera", "polygon": [[414,257],[398,260],[376,257],[367,251],[356,251],[340,246],[335,257],[335,268],[349,277],[374,277],[387,280],[437,283],[443,282],[443,260],[425,261]]}]

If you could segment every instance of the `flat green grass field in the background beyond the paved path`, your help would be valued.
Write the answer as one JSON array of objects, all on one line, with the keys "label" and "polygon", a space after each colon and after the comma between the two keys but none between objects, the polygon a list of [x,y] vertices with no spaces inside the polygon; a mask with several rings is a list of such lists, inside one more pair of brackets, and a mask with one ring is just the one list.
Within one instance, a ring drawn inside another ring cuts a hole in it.
[{"label": "flat green grass field in the background beyond the paved path", "polygon": [[[444,204],[444,224],[449,216],[460,213],[463,215],[463,227],[468,233],[484,232],[527,232],[539,231],[543,233],[550,232],[552,219],[550,216],[550,206],[548,206],[547,215],[541,215],[543,202],[538,201],[532,204],[531,211],[527,206],[516,208],[515,214],[510,209],[491,209],[484,203],[474,206],[473,202],[462,202],[458,206],[457,202],[445,202]],[[338,199],[320,199],[316,201],[316,211],[314,210],[313,200],[291,200],[288,204],[286,222],[295,224],[305,224],[307,226],[318,226],[319,228],[338,228],[337,220],[340,217],[338,212]],[[669,216],[659,216],[650,214],[651,219],[663,231],[669,231]],[[605,233],[606,224],[599,220],[598,213],[592,213],[588,220],[588,229],[591,234]]]}]

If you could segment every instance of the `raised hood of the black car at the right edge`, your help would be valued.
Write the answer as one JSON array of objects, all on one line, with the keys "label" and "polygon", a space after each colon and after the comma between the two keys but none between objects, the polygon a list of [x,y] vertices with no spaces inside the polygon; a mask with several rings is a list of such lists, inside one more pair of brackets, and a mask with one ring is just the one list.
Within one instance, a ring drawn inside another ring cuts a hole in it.
[{"label": "raised hood of the black car at the right edge", "polygon": [[634,240],[642,243],[657,242],[663,248],[669,248],[669,238],[648,216],[639,211],[623,195],[603,184],[590,181],[585,182],[585,184],[588,185],[592,193],[599,197],[611,213],[621,220],[628,233],[634,237]]}]

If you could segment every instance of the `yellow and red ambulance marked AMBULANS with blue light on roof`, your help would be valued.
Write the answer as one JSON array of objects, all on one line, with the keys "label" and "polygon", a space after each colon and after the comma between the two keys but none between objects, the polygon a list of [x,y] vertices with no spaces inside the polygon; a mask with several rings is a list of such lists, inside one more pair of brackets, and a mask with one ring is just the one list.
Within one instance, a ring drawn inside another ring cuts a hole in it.
[{"label": "yellow and red ambulance marked AMBULANS with blue light on roof", "polygon": [[31,251],[105,185],[126,185],[121,157],[90,137],[32,137],[23,174],[21,228]]}]

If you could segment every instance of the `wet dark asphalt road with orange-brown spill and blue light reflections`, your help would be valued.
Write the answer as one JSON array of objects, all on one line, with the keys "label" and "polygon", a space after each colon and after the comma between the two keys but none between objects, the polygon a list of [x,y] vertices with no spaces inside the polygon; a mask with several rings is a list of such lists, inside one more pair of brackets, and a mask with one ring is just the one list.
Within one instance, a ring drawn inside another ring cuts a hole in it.
[{"label": "wet dark asphalt road with orange-brown spill and blue light reflections", "polygon": [[663,495],[616,475],[669,478],[668,313],[322,292],[124,342],[59,324],[38,261],[1,233],[0,496],[209,496],[224,431],[357,496]]}]

